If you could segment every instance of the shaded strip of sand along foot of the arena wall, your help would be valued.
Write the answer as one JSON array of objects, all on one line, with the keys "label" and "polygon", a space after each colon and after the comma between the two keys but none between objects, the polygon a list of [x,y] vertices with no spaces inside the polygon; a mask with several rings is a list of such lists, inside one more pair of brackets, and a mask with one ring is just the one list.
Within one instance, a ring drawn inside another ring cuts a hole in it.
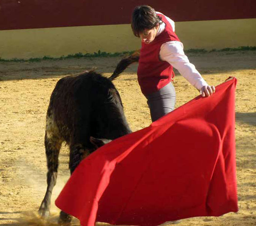
[{"label": "shaded strip of sand along foot of the arena wall", "polygon": [[[209,52],[204,54],[188,54],[189,60],[203,75],[229,73],[244,69],[255,69],[256,51]],[[122,57],[70,58],[62,60],[40,61],[0,61],[0,81],[58,78],[70,74],[78,74],[96,68],[100,74],[113,73]],[[125,70],[137,74],[137,63]],[[178,74],[178,71],[175,71]],[[232,76],[232,75],[231,75]]]}]

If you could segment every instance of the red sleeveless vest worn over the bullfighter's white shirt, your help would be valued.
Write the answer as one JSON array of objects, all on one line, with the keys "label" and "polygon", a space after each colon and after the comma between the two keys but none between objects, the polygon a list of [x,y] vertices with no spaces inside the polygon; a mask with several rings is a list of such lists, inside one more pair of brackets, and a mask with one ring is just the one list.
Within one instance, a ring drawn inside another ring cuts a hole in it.
[{"label": "red sleeveless vest worn over the bullfighter's white shirt", "polygon": [[163,43],[180,41],[172,30],[171,24],[162,14],[162,21],[166,24],[164,31],[149,44],[141,43],[140,60],[138,66],[138,82],[143,94],[150,94],[167,85],[174,77],[172,66],[159,59],[160,47]]}]

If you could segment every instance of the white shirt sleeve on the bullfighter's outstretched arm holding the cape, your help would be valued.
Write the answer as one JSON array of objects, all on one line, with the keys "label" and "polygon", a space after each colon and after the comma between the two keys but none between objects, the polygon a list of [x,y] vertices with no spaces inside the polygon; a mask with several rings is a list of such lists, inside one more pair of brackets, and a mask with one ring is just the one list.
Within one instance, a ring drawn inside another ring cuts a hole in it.
[{"label": "white shirt sleeve on the bullfighter's outstretched arm holding the cape", "polygon": [[177,69],[196,89],[200,90],[203,86],[208,86],[197,69],[195,69],[195,66],[189,62],[181,42],[171,41],[164,43],[161,45],[159,56],[161,60],[167,61]]}]

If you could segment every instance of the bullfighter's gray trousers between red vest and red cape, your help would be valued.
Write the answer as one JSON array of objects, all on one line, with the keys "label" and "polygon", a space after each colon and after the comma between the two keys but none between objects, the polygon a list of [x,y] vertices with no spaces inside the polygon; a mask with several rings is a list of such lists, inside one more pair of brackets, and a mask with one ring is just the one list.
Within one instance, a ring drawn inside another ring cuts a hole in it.
[{"label": "bullfighter's gray trousers between red vest and red cape", "polygon": [[145,95],[145,97],[152,122],[174,110],[176,93],[171,82],[157,92]]}]

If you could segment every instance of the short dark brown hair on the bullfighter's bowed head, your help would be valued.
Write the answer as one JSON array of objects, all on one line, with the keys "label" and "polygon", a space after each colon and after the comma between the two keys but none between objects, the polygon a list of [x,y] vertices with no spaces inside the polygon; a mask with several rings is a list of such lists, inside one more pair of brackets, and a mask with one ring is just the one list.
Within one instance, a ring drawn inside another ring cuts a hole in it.
[{"label": "short dark brown hair on the bullfighter's bowed head", "polygon": [[155,9],[150,6],[142,5],[136,6],[132,12],[132,31],[137,37],[144,29],[152,29],[161,24],[161,17],[159,17]]}]

